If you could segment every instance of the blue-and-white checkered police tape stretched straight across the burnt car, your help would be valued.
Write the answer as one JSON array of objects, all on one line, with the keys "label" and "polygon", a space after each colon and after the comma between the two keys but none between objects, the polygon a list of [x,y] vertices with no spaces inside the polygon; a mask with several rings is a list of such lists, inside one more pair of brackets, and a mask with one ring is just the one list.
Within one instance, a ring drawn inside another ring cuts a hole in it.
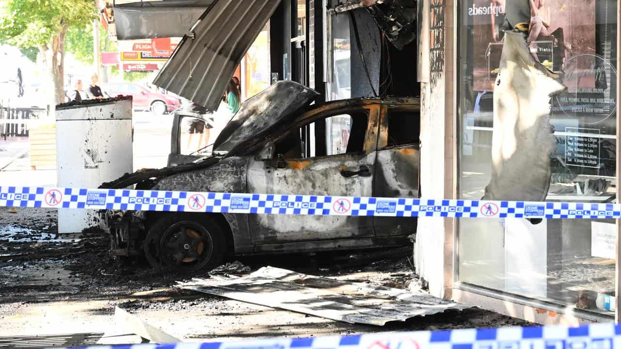
[{"label": "blue-and-white checkered police tape stretched straight across the burnt car", "polygon": [[0,186],[0,206],[236,214],[618,219],[621,205]]}]

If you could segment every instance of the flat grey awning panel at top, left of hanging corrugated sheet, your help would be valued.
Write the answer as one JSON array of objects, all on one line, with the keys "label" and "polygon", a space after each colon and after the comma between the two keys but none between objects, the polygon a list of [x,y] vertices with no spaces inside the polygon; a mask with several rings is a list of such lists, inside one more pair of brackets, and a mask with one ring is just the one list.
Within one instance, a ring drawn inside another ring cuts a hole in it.
[{"label": "flat grey awning panel at top, left of hanging corrugated sheet", "polygon": [[116,4],[119,40],[183,37],[215,0],[162,0]]}]

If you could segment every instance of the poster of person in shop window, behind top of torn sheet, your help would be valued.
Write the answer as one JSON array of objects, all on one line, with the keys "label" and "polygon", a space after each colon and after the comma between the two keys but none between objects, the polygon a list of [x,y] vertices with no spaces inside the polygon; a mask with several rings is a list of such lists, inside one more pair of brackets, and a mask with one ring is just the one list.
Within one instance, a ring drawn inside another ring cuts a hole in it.
[{"label": "poster of person in shop window, behind top of torn sheet", "polygon": [[595,87],[591,70],[596,53],[595,0],[473,0],[468,8],[473,30],[475,91],[493,91],[501,60],[503,29],[522,27],[528,48],[549,70],[563,76],[572,57],[576,88]]}]

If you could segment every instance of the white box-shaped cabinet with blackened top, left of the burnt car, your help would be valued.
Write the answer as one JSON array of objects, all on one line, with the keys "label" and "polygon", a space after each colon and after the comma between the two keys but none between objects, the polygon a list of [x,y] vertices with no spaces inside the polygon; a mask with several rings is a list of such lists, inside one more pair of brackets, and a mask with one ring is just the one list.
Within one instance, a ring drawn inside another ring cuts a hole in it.
[{"label": "white box-shaped cabinet with blackened top, left of the burnt car", "polygon": [[[58,186],[97,188],[132,172],[131,97],[60,104],[56,122]],[[58,210],[58,233],[94,225],[96,212]]]}]

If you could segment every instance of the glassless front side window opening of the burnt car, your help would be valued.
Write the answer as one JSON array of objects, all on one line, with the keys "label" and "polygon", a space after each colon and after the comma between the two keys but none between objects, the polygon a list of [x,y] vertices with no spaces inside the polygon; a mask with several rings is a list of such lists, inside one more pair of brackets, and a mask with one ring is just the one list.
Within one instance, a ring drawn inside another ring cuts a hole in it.
[{"label": "glassless front side window opening of the burnt car", "polygon": [[364,150],[368,114],[330,116],[299,127],[276,143],[274,156],[284,159],[360,153]]}]

